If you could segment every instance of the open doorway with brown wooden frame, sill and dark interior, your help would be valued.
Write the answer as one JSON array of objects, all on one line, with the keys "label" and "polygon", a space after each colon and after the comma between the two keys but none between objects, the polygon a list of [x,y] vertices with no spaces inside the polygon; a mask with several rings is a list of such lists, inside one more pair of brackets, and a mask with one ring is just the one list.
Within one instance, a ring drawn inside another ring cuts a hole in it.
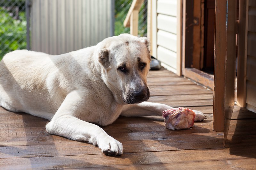
[{"label": "open doorway with brown wooden frame, sill and dark interior", "polygon": [[215,0],[184,0],[182,74],[213,90]]}]

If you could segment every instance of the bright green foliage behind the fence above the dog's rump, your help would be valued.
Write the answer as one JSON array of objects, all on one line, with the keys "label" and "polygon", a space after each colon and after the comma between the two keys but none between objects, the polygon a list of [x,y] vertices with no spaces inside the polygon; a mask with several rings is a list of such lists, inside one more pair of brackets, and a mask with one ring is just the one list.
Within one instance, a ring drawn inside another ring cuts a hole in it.
[{"label": "bright green foliage behind the fence above the dog's rump", "polygon": [[19,19],[13,19],[8,11],[0,7],[0,60],[16,49],[26,49],[26,16],[19,13]]}]

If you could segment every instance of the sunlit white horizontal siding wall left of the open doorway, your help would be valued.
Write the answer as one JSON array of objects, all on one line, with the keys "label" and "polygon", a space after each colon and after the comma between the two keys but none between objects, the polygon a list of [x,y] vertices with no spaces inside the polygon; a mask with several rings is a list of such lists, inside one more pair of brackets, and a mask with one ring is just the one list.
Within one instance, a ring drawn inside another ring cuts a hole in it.
[{"label": "sunlit white horizontal siding wall left of the open doorway", "polygon": [[177,2],[179,1],[157,0],[156,13],[152,13],[153,16],[157,16],[156,42],[152,42],[157,45],[156,57],[164,67],[175,73],[177,72]]}]

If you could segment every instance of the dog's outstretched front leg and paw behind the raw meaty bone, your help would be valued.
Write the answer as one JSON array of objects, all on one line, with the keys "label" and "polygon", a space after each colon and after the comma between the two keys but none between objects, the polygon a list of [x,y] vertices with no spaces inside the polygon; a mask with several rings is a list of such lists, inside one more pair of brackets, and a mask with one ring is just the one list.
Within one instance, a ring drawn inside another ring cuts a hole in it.
[{"label": "dog's outstretched front leg and paw behind the raw meaty bone", "polygon": [[[171,109],[173,107],[170,107],[165,104],[161,103],[152,103],[152,102],[142,102],[140,104],[132,104],[132,105],[125,105],[123,107],[122,116],[162,116],[163,111],[167,109]],[[207,119],[206,116],[197,110],[193,110],[196,113],[195,122],[196,121],[203,121],[204,119]]]}]

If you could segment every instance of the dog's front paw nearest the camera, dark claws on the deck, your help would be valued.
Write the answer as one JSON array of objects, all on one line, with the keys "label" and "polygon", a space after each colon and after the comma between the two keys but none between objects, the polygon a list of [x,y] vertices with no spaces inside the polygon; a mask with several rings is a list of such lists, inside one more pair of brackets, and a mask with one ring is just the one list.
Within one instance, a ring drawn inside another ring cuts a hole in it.
[{"label": "dog's front paw nearest the camera, dark claws on the deck", "polygon": [[99,148],[105,155],[119,156],[123,154],[123,144],[113,137],[108,137],[99,142]]}]

